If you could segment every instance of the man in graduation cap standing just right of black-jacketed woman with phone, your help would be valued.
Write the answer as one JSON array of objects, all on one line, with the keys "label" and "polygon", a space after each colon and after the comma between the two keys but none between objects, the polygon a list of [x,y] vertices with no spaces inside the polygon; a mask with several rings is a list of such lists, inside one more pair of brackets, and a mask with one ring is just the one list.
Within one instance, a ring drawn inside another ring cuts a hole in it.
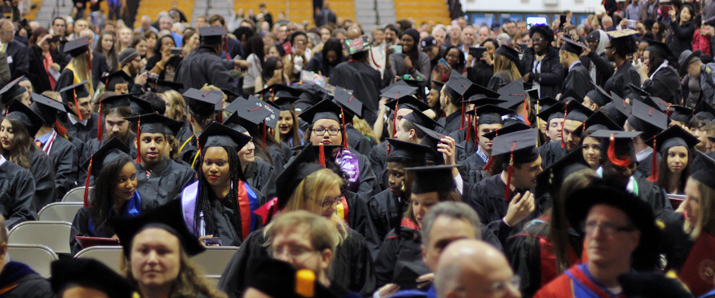
[{"label": "man in graduation cap standing just right of black-jacketed woman with phone", "polygon": [[561,40],[565,41],[565,43],[561,46],[559,57],[561,65],[568,69],[563,88],[561,88],[561,94],[573,90],[580,98],[583,98],[594,86],[594,82],[588,74],[588,69],[579,60],[579,56],[586,49],[586,46],[566,37]]}]

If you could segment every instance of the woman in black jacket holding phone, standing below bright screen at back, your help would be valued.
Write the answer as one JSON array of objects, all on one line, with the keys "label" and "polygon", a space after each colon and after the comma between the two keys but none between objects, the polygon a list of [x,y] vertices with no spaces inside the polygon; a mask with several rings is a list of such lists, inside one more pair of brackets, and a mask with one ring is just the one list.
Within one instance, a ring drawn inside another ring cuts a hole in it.
[{"label": "woman in black jacket holding phone, standing below bright screen at back", "polygon": [[546,25],[534,25],[529,29],[532,47],[524,51],[524,83],[532,83],[539,90],[539,98],[556,97],[560,92],[564,69],[559,62],[559,49],[551,44],[554,31]]}]

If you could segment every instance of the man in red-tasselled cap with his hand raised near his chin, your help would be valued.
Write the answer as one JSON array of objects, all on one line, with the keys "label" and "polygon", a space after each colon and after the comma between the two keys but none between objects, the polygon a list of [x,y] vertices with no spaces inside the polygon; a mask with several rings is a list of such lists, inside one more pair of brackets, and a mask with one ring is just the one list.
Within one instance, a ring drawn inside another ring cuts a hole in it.
[{"label": "man in red-tasselled cap with his hand raised near his chin", "polygon": [[537,129],[527,129],[494,138],[492,155],[501,157],[503,171],[483,179],[462,196],[501,243],[506,243],[517,224],[543,211],[544,206],[529,191],[542,171],[535,147],[537,136]]}]

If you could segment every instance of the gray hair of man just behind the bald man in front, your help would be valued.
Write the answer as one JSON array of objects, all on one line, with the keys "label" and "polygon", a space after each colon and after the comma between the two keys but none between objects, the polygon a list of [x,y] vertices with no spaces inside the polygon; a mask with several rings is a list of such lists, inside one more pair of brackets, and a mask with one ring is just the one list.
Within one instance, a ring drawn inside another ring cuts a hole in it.
[{"label": "gray hair of man just behind the bald man in front", "polygon": [[479,215],[471,206],[462,202],[441,202],[430,208],[430,211],[425,214],[425,218],[422,219],[422,229],[420,231],[422,244],[427,245],[429,243],[432,225],[440,216],[468,221],[472,224],[477,239],[482,238],[482,224],[479,221]]}]

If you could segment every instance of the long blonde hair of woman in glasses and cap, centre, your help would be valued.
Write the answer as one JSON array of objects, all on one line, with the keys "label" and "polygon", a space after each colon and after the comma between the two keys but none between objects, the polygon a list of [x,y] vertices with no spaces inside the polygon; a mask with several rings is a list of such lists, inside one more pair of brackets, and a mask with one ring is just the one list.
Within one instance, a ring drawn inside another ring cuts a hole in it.
[{"label": "long blonde hair of woman in glasses and cap, centre", "polygon": [[[285,208],[283,208],[283,212],[305,210],[317,214],[320,210],[308,210],[308,200],[313,200],[316,205],[320,205],[320,203],[316,201],[317,198],[325,197],[329,189],[335,186],[342,187],[343,183],[343,178],[330,169],[315,171],[308,175],[308,177],[305,177],[295,190],[293,190],[293,194],[288,199]],[[347,226],[345,221],[337,214],[333,214],[330,221],[332,221],[333,224]],[[341,239],[347,237],[345,229],[341,229],[341,234]]]}]

